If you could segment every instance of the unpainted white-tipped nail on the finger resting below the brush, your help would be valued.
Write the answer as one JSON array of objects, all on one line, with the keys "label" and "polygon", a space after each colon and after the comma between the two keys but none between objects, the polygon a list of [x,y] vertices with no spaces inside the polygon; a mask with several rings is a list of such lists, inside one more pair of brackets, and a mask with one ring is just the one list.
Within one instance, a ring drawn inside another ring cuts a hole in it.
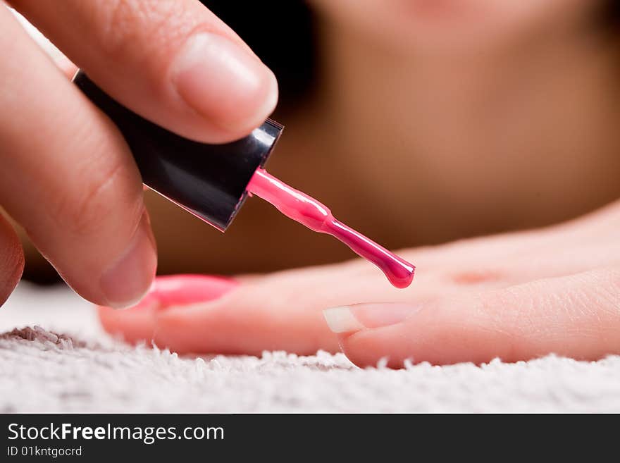
[{"label": "unpainted white-tipped nail on the finger resting below the brush", "polygon": [[334,333],[354,333],[400,323],[421,309],[418,304],[355,304],[323,310],[327,325]]}]

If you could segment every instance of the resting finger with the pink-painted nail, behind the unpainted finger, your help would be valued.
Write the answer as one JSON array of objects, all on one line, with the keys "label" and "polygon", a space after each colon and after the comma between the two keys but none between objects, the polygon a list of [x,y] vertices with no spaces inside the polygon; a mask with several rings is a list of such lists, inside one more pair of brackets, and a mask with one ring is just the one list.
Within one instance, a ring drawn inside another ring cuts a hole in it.
[{"label": "resting finger with the pink-painted nail, behind the unpainted finger", "polygon": [[[395,290],[367,262],[305,268],[236,280],[221,290],[221,278],[157,278],[154,290],[137,307],[123,311],[100,308],[107,331],[132,342],[154,340],[175,352],[260,354],[286,350],[312,354],[336,352],[322,309],[368,300],[424,300],[424,278],[407,290]],[[159,282],[174,281],[170,284]],[[179,296],[192,295],[191,300]]]}]

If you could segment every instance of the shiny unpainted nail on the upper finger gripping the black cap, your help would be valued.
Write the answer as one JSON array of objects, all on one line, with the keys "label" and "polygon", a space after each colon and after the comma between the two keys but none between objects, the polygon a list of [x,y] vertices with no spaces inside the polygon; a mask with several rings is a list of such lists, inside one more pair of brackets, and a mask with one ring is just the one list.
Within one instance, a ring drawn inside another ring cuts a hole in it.
[{"label": "shiny unpainted nail on the upper finger gripping the black cap", "polygon": [[185,44],[173,64],[173,82],[186,104],[224,130],[260,125],[278,101],[275,75],[259,58],[206,32]]}]

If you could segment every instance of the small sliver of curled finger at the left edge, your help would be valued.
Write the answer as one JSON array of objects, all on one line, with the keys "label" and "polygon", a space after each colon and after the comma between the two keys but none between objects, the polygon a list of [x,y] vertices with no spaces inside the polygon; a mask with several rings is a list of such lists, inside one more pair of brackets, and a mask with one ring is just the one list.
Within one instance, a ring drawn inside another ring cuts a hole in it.
[{"label": "small sliver of curled finger at the left edge", "polygon": [[0,306],[15,289],[24,271],[19,237],[0,213]]}]

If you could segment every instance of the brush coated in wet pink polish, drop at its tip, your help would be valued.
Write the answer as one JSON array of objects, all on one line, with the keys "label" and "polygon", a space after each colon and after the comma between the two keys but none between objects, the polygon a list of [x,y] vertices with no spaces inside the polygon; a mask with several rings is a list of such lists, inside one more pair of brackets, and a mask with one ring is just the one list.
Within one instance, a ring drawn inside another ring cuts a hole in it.
[{"label": "brush coated in wet pink polish, drop at its tip", "polygon": [[407,288],[414,279],[415,267],[409,262],[337,221],[331,211],[316,199],[286,185],[264,169],[256,170],[247,191],[270,202],[294,221],[345,243],[356,254],[378,266],[396,288]]}]

